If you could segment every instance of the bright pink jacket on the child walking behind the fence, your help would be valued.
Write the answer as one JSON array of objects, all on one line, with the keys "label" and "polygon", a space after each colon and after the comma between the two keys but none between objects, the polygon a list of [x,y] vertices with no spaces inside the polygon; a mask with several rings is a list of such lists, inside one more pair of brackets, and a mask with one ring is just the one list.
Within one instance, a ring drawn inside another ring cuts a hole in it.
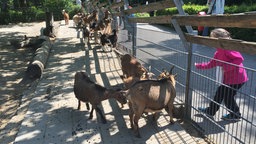
[{"label": "bright pink jacket on the child walking behind the fence", "polygon": [[[216,61],[216,59],[227,63]],[[221,66],[224,72],[224,84],[241,84],[248,80],[246,71],[243,68],[243,61],[244,58],[239,52],[217,48],[217,51],[211,61],[196,63],[195,66],[198,69],[210,69],[216,66]],[[237,66],[228,63],[232,63]]]}]

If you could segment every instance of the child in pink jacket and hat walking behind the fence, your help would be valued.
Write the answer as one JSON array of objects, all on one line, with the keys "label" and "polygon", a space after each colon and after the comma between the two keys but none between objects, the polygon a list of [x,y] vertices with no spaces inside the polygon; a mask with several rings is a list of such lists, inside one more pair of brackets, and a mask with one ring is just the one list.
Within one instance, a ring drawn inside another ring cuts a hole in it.
[{"label": "child in pink jacket and hat walking behind the fence", "polygon": [[[212,30],[210,37],[231,39],[230,33],[222,28]],[[220,104],[224,101],[230,113],[224,115],[222,119],[237,120],[241,118],[235,95],[237,90],[248,81],[246,71],[243,68],[243,61],[244,58],[239,52],[217,48],[212,60],[204,63],[195,63],[198,69],[211,69],[220,66],[223,70],[223,85],[217,88],[214,101],[211,101],[207,108],[199,107],[199,111],[214,116],[219,110]]]}]

